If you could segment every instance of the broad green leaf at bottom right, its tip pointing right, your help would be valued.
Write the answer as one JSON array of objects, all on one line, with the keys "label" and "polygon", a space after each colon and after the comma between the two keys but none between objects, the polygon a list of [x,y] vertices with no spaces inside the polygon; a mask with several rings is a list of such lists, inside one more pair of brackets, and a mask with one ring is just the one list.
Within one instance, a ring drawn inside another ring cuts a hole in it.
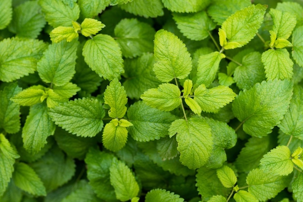
[{"label": "broad green leaf at bottom right, its tip pointing right", "polygon": [[246,178],[248,192],[262,202],[275,197],[290,180],[288,176],[273,175],[260,169],[250,171]]}]

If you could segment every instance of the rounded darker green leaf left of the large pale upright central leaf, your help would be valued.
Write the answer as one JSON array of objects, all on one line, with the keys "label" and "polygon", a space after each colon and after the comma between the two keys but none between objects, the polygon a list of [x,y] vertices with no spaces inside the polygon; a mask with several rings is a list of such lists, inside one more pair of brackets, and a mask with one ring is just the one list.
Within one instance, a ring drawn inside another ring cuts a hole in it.
[{"label": "rounded darker green leaf left of the large pale upright central leaf", "polygon": [[151,25],[135,18],[122,19],[115,27],[116,41],[123,56],[133,58],[153,51],[155,31]]}]

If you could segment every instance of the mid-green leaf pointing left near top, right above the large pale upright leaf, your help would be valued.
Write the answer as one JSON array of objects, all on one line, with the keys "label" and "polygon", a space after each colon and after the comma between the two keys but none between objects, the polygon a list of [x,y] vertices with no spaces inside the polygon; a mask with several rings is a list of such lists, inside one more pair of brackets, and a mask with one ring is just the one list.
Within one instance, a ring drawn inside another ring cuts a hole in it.
[{"label": "mid-green leaf pointing left near top, right above the large pale upright leaf", "polygon": [[173,13],[173,19],[184,36],[195,41],[207,38],[209,31],[216,27],[216,24],[207,16],[205,11],[194,14]]}]

